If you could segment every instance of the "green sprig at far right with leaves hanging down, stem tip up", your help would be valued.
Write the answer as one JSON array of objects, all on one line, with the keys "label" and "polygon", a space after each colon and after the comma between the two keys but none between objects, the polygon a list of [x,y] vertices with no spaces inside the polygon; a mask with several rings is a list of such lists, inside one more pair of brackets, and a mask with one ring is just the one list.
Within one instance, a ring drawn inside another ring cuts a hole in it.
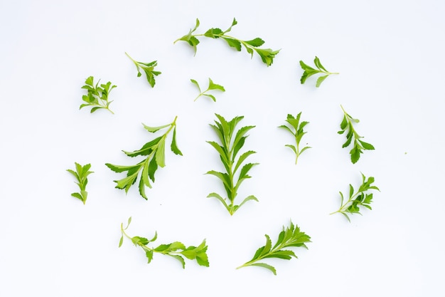
[{"label": "green sprig at far right with leaves hanging down, stem tip up", "polygon": [[354,123],[359,123],[360,120],[355,119],[348,113],[346,113],[343,106],[341,106],[341,109],[343,110],[343,120],[341,121],[341,130],[338,131],[338,134],[343,134],[346,132],[346,142],[343,143],[342,147],[348,147],[351,142],[353,142],[353,148],[350,150],[349,153],[350,161],[355,164],[360,159],[360,154],[363,153],[363,150],[374,150],[374,146],[368,142],[360,140],[360,138],[363,137],[358,135],[358,132],[355,131]]}]

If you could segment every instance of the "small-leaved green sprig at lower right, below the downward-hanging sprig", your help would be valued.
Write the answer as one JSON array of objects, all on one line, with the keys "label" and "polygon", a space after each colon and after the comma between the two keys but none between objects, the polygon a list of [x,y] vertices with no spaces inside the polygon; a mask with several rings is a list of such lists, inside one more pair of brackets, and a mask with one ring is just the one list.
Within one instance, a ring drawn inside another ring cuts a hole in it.
[{"label": "small-leaved green sprig at lower right, below the downward-hanging sprig", "polygon": [[370,207],[372,202],[372,193],[368,193],[368,191],[371,189],[380,191],[378,187],[372,185],[374,182],[374,177],[368,177],[368,179],[366,179],[365,174],[362,173],[362,184],[360,184],[357,192],[354,192],[353,185],[349,184],[349,198],[346,202],[343,193],[339,192],[341,197],[341,206],[336,212],[331,214],[341,213],[346,217],[346,219],[348,219],[348,222],[350,222],[348,214],[360,214],[360,206],[366,207],[367,209],[372,209]]}]

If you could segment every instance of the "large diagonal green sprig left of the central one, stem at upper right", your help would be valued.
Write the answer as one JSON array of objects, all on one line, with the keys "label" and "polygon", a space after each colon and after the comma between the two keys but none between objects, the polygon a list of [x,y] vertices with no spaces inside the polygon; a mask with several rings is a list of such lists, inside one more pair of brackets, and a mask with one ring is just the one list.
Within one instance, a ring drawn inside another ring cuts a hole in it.
[{"label": "large diagonal green sprig left of the central one, stem at upper right", "polygon": [[164,128],[168,128],[168,130],[163,135],[156,137],[154,140],[146,142],[146,144],[139,150],[135,150],[133,152],[124,151],[125,155],[129,157],[144,156],[145,158],[144,160],[141,160],[141,162],[138,162],[136,165],[129,166],[112,165],[109,163],[105,164],[114,172],[127,172],[127,177],[114,180],[114,182],[117,184],[117,189],[124,189],[127,193],[130,187],[132,187],[132,184],[134,184],[136,179],[139,177],[139,194],[141,194],[141,197],[144,199],[147,199],[145,187],[151,188],[151,182],[154,182],[154,174],[156,170],[158,167],[164,167],[166,165],[166,137],[171,130],[173,130],[173,137],[170,145],[171,151],[176,155],[182,155],[181,150],[179,150],[178,146],[176,145],[176,118],[172,123],[159,127],[150,127],[142,124],[144,125],[144,128],[151,133],[157,132],[158,130],[162,130]]}]

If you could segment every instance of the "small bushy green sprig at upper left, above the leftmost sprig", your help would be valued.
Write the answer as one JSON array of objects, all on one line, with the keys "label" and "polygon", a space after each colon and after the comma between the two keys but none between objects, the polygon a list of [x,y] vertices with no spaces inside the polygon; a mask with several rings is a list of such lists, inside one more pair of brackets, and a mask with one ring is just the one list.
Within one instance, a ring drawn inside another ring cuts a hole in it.
[{"label": "small bushy green sprig at upper left, above the leftmost sprig", "polygon": [[112,110],[109,109],[109,105],[113,101],[108,100],[108,95],[112,89],[117,88],[117,86],[112,85],[111,82],[99,85],[99,82],[100,80],[95,84],[92,76],[85,80],[85,85],[82,86],[82,89],[87,90],[87,95],[82,95],[82,100],[85,103],[80,105],[79,109],[85,108],[85,106],[92,106],[90,113],[94,113],[98,109],[106,109],[110,113],[113,113]]}]

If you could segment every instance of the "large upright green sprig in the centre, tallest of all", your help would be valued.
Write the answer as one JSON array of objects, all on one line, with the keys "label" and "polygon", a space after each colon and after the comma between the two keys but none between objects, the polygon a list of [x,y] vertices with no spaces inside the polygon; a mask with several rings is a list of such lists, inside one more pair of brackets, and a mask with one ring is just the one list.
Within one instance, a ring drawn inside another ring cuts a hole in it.
[{"label": "large upright green sprig in the centre, tallest of all", "polygon": [[[210,125],[210,127],[212,127],[216,135],[218,135],[218,140],[220,140],[220,143],[214,141],[208,141],[208,143],[212,145],[212,147],[214,147],[220,155],[220,160],[223,162],[225,172],[210,170],[206,174],[214,175],[215,177],[218,177],[221,182],[223,182],[225,192],[227,193],[227,198],[225,199],[220,194],[215,192],[208,194],[208,197],[218,199],[221,203],[223,203],[230,215],[232,215],[242,206],[242,204],[245,204],[245,202],[250,200],[258,201],[257,197],[250,195],[240,204],[235,205],[235,198],[237,197],[238,188],[242,182],[245,181],[245,179],[250,178],[248,173],[252,167],[258,165],[258,163],[247,163],[242,165],[247,157],[255,153],[252,150],[242,153],[240,157],[237,158],[238,152],[240,152],[248,136],[246,133],[255,126],[241,127],[235,134],[236,126],[240,120],[244,118],[243,116],[238,116],[230,121],[227,121],[221,115],[215,115],[218,120],[215,120],[215,125]],[[240,170],[239,174],[237,174],[238,170]]]}]

